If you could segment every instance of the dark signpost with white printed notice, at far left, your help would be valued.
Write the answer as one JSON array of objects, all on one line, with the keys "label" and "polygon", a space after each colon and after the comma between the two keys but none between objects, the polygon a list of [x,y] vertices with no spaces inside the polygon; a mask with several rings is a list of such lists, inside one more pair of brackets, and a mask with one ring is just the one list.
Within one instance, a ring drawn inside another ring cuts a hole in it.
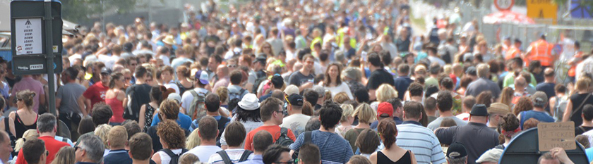
[{"label": "dark signpost with white printed notice, at far left", "polygon": [[62,71],[61,34],[60,1],[11,1],[13,74],[47,74],[49,112],[54,115],[54,72]]}]

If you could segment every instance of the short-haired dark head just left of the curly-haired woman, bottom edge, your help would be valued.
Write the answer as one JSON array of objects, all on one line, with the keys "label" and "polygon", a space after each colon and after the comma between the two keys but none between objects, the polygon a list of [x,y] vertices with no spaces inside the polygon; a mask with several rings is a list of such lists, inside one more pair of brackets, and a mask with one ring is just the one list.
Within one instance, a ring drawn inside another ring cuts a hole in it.
[{"label": "short-haired dark head just left of the curly-haired woman, bottom edge", "polygon": [[152,139],[146,133],[134,134],[128,140],[130,151],[128,154],[132,160],[149,160],[152,156]]}]

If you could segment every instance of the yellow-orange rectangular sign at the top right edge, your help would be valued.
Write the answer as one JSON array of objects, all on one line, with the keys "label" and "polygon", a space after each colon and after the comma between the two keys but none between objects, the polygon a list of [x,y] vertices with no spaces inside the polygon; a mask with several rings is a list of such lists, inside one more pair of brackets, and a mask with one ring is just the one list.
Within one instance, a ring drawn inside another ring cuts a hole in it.
[{"label": "yellow-orange rectangular sign at the top right edge", "polygon": [[527,0],[527,16],[533,19],[551,19],[556,24],[558,5],[553,0]]}]

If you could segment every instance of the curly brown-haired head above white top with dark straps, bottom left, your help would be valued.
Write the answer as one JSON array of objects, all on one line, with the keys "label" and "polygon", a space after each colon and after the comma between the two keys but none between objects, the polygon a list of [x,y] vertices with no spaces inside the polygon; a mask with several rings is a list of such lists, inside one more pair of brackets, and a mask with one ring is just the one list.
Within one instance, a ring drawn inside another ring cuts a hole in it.
[{"label": "curly brown-haired head above white top with dark straps, bottom left", "polygon": [[182,149],[185,147],[185,132],[177,122],[164,120],[159,122],[157,135],[164,149]]}]

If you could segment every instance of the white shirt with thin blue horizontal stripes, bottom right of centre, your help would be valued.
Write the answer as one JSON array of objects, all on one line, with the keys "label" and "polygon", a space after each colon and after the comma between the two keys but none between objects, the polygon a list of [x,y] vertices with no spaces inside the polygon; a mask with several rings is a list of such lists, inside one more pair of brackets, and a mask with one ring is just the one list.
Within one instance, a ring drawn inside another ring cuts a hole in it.
[{"label": "white shirt with thin blue horizontal stripes, bottom right of centre", "polygon": [[397,132],[397,146],[414,152],[418,163],[447,162],[441,143],[429,128],[416,121],[405,121],[397,125]]}]

